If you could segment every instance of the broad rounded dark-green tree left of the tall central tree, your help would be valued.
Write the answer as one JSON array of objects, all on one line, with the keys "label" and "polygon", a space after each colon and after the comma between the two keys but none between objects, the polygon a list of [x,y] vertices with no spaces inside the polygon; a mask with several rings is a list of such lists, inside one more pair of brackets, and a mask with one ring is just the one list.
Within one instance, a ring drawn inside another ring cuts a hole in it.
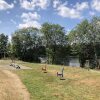
[{"label": "broad rounded dark-green tree left of the tall central tree", "polygon": [[17,30],[12,36],[15,56],[25,61],[38,62],[40,55],[45,55],[40,31],[36,28]]}]

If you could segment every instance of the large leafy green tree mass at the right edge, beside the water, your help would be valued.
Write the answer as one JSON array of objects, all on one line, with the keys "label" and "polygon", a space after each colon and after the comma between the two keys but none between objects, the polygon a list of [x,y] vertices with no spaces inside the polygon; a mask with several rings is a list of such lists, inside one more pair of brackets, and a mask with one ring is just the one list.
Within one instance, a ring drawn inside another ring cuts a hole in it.
[{"label": "large leafy green tree mass at the right edge, beside the water", "polygon": [[82,67],[84,67],[85,60],[87,59],[93,62],[93,67],[91,68],[97,66],[96,43],[99,42],[100,39],[99,33],[100,18],[94,17],[91,22],[88,22],[88,20],[82,21],[69,34],[70,43],[79,46],[78,52]]}]

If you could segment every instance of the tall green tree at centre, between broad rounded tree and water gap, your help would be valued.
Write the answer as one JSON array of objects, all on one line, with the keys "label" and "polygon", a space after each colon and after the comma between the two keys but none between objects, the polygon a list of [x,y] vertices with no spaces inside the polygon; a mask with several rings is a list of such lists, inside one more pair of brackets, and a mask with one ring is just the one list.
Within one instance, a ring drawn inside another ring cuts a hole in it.
[{"label": "tall green tree at centre, between broad rounded tree and water gap", "polygon": [[62,61],[58,60],[66,58],[68,55],[64,28],[58,24],[44,23],[41,32],[43,33],[48,63],[61,63]]}]

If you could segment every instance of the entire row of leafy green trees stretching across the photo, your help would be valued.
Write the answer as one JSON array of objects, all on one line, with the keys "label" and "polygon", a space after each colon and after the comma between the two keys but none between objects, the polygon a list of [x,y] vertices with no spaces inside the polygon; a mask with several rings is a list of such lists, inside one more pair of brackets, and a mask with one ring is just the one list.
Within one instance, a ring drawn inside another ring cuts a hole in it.
[{"label": "entire row of leafy green trees stretching across the photo", "polygon": [[70,56],[79,57],[80,66],[86,60],[90,68],[99,68],[100,18],[83,20],[69,34],[58,24],[44,23],[41,29],[24,28],[8,36],[0,35],[0,58],[16,57],[23,61],[40,62],[47,57],[48,63],[63,64]]}]

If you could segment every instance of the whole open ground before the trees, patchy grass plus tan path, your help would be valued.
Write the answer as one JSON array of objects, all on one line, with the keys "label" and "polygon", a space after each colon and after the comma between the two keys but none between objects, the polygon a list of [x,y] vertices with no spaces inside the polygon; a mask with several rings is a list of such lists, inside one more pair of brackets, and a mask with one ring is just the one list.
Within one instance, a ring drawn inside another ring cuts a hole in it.
[{"label": "whole open ground before the trees, patchy grass plus tan path", "polygon": [[[0,64],[8,63],[10,61],[5,60]],[[0,86],[3,87],[0,89],[0,97],[5,97],[2,100],[29,100],[29,93],[30,100],[100,100],[100,71],[64,66],[65,80],[60,80],[57,72],[61,71],[62,66],[47,65],[47,73],[43,73],[43,64],[16,63],[27,66],[27,69],[0,70]]]}]

